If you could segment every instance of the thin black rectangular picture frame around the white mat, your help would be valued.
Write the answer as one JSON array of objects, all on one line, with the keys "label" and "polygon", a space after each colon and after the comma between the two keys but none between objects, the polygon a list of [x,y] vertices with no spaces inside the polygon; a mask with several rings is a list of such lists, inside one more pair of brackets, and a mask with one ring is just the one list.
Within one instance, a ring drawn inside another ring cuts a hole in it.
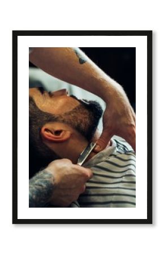
[{"label": "thin black rectangular picture frame around the white mat", "polygon": [[[12,31],[12,224],[152,224],[152,31]],[[18,219],[18,36],[147,37],[147,218]]]}]

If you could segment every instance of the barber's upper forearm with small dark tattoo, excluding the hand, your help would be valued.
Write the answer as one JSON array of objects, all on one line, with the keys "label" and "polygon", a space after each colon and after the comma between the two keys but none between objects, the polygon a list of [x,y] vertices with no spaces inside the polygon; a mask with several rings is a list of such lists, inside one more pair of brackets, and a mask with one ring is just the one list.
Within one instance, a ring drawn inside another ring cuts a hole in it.
[{"label": "barber's upper forearm with small dark tattoo, excluding the hand", "polygon": [[97,94],[105,102],[123,89],[79,48],[33,48],[29,60],[50,75]]}]

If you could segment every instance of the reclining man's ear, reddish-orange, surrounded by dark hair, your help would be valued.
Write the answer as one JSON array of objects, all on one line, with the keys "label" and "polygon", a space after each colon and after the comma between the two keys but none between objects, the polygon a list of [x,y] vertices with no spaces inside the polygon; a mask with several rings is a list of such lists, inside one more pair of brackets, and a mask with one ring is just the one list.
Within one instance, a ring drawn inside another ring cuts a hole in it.
[{"label": "reclining man's ear, reddish-orange, surrounded by dark hair", "polygon": [[61,143],[71,137],[71,131],[59,123],[46,123],[41,129],[41,137],[48,142]]}]

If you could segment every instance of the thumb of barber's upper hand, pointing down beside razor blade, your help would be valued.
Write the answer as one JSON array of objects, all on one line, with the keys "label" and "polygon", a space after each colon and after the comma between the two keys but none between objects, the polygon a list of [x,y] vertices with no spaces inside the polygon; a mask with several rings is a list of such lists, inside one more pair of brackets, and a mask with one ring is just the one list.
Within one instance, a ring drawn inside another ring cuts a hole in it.
[{"label": "thumb of barber's upper hand, pointing down beside razor blade", "polygon": [[113,135],[109,133],[109,129],[104,130],[101,134],[101,137],[96,142],[96,146],[94,147],[94,152],[98,153],[102,151],[109,143],[111,137],[113,137]]}]

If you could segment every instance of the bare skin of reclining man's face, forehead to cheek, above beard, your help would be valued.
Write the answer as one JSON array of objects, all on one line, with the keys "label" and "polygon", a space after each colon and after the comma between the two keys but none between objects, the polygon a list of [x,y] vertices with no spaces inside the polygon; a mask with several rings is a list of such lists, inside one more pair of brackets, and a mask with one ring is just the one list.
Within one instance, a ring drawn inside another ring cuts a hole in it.
[{"label": "bare skin of reclining man's face, forehead to cheek, above beard", "polygon": [[32,88],[29,89],[29,96],[33,98],[40,110],[51,114],[66,113],[80,105],[79,101],[68,96],[66,89],[48,93],[40,87]]}]

